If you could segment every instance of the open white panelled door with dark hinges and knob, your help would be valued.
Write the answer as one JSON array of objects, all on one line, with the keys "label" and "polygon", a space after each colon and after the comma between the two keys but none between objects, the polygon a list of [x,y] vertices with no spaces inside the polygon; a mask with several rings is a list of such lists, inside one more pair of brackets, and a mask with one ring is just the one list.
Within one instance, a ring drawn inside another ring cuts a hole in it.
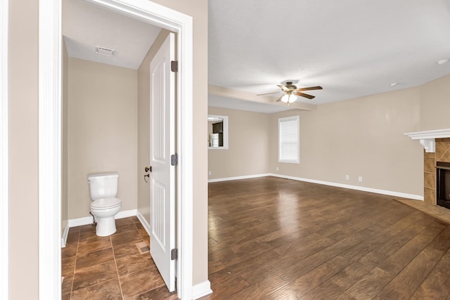
[{"label": "open white panelled door with dark hinges and knob", "polygon": [[150,63],[150,254],[170,292],[175,289],[175,75],[174,34]]}]

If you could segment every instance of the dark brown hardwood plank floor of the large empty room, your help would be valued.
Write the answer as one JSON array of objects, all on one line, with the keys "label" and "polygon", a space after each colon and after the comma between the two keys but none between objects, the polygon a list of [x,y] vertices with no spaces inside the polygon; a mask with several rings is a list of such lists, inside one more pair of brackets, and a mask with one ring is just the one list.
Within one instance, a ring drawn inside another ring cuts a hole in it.
[{"label": "dark brown hardwood plank floor of the large empty room", "polygon": [[392,196],[265,177],[209,185],[206,299],[450,299],[450,227]]}]

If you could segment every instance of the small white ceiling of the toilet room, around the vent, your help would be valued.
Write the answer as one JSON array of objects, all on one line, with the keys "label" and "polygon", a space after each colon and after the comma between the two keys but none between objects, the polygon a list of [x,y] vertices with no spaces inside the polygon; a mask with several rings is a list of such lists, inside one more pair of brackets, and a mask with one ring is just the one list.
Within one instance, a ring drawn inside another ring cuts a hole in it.
[{"label": "small white ceiling of the toilet room, around the vent", "polygon": [[[71,58],[136,70],[160,30],[83,0],[63,0],[63,35]],[[96,54],[96,46],[113,49],[114,56]]]}]

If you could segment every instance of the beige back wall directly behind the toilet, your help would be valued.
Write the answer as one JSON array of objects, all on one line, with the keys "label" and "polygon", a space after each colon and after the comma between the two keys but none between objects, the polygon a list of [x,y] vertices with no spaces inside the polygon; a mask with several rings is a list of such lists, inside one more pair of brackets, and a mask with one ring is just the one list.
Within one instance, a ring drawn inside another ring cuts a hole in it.
[{"label": "beige back wall directly behind the toilet", "polygon": [[119,173],[122,211],[137,207],[137,71],[70,58],[68,217],[89,216],[87,175]]}]

